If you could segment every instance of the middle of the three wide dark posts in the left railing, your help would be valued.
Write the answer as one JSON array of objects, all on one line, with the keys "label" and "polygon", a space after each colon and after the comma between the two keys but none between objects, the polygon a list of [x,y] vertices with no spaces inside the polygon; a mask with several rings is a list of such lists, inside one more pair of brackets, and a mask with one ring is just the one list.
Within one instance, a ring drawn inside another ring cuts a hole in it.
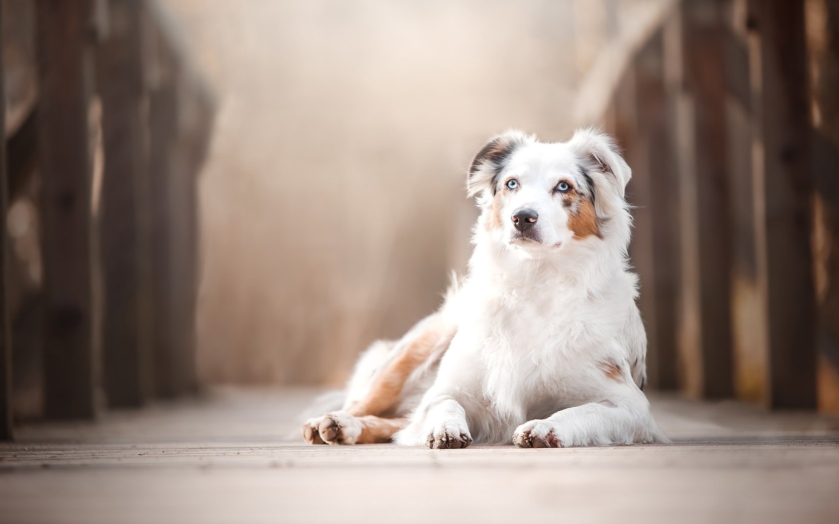
[{"label": "middle of the three wide dark posts in the left railing", "polygon": [[99,226],[105,284],[102,367],[108,405],[133,407],[151,393],[149,169],[140,3],[112,0],[109,11],[110,32],[96,53],[105,148]]}]

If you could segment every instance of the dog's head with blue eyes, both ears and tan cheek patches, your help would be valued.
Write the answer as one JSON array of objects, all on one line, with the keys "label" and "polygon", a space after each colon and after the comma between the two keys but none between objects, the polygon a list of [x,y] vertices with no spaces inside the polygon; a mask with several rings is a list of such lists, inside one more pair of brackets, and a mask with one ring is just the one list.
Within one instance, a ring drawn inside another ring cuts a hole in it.
[{"label": "dog's head with blue eyes, both ears and tan cheek patches", "polygon": [[541,143],[510,131],[493,137],[469,169],[469,195],[482,207],[493,241],[533,250],[575,242],[628,243],[624,189],[631,177],[612,138],[581,129],[571,140]]}]

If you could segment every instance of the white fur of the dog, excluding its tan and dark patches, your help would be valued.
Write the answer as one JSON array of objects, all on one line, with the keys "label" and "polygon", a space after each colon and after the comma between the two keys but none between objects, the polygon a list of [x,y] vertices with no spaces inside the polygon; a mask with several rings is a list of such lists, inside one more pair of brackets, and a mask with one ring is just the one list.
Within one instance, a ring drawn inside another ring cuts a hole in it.
[{"label": "white fur of the dog, excluding its tan and dark patches", "polygon": [[[469,272],[435,313],[457,333],[436,374],[426,369],[406,385],[399,411],[410,413],[409,425],[394,442],[509,444],[514,434],[517,444],[549,437],[561,446],[665,442],[639,388],[646,335],[627,256],[628,165],[609,137],[589,129],[566,143],[520,132],[497,139],[518,147],[501,165],[477,163],[469,190],[482,215]],[[594,184],[600,238],[575,238],[569,210],[552,192],[560,179],[585,191],[582,170]],[[519,187],[503,200],[503,226],[493,227],[493,188],[511,177]],[[539,213],[539,242],[513,240],[508,217],[522,206]],[[362,358],[348,401],[365,391],[361,374],[377,367],[371,362],[387,361],[382,352],[373,346]],[[607,376],[608,362],[620,376]]]}]

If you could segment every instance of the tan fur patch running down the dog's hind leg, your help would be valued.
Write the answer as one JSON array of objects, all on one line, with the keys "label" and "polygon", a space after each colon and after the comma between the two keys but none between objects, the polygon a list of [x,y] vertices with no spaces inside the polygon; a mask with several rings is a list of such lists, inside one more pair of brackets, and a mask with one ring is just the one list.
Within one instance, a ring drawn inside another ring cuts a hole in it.
[{"label": "tan fur patch running down the dog's hind leg", "polygon": [[378,371],[367,395],[347,408],[347,412],[356,417],[388,412],[399,402],[402,388],[410,374],[431,357],[440,358],[448,349],[455,332],[456,329],[443,325],[441,321],[431,323],[428,329],[404,345],[399,355]]}]

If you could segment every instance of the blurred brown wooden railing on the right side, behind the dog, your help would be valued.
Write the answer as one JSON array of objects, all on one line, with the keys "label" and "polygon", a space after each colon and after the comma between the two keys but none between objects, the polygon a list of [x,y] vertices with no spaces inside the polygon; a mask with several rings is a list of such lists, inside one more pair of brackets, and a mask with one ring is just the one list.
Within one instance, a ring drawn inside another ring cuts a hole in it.
[{"label": "blurred brown wooden railing on the right side, behind the dog", "polygon": [[650,384],[839,412],[839,3],[674,3],[637,44],[602,123]]}]

